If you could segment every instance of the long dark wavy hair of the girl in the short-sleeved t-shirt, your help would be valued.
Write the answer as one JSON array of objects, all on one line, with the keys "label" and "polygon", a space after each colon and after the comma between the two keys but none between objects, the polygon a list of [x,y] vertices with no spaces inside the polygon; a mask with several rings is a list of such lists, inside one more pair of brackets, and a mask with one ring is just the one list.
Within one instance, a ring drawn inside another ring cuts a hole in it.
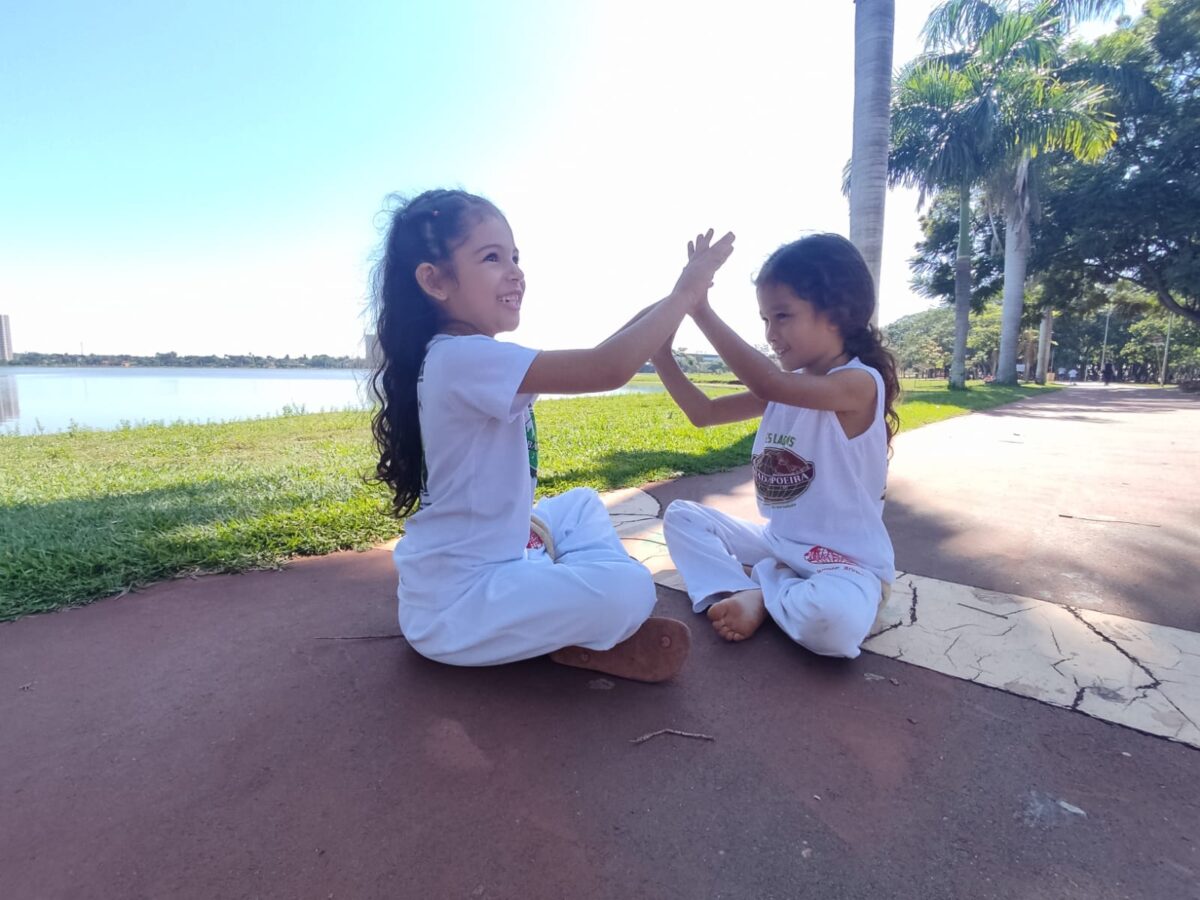
[{"label": "long dark wavy hair of the girl in the short-sleeved t-shirt", "polygon": [[424,454],[416,379],[430,338],[444,325],[437,304],[416,282],[416,268],[432,263],[454,275],[451,253],[487,216],[503,214],[466,191],[426,191],[394,198],[383,254],[371,277],[380,361],[371,373],[379,408],[371,420],[379,463],[376,480],[392,492],[392,511],[412,512],[421,496]]}]

